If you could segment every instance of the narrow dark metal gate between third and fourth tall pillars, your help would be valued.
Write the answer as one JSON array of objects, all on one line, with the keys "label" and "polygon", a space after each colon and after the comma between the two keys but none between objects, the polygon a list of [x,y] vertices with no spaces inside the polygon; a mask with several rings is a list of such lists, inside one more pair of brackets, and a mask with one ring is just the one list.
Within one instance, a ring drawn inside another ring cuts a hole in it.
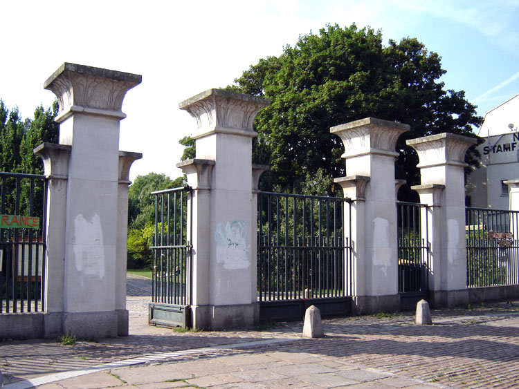
[{"label": "narrow dark metal gate between third and fourth tall pillars", "polygon": [[413,309],[421,298],[428,298],[429,247],[427,229],[421,229],[422,218],[427,224],[427,206],[414,202],[397,202],[398,274],[400,306]]}]

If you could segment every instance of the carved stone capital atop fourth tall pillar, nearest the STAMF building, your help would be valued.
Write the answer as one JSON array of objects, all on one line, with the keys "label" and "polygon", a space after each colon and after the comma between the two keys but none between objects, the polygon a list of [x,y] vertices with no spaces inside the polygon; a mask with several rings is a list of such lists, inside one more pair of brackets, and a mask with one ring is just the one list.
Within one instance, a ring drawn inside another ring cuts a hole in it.
[{"label": "carved stone capital atop fourth tall pillar, nearest the STAMF building", "polygon": [[410,139],[406,141],[418,153],[420,163],[417,167],[433,167],[439,165],[455,165],[466,167],[465,153],[470,146],[476,144],[473,137],[452,133],[441,133]]}]

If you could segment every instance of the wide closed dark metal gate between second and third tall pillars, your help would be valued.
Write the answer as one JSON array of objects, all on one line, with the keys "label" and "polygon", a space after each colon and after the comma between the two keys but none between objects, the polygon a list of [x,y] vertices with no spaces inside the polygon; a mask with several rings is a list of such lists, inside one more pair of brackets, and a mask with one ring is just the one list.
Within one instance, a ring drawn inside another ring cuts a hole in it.
[{"label": "wide closed dark metal gate between second and third tall pillars", "polygon": [[260,320],[351,312],[349,199],[258,193],[257,299]]}]

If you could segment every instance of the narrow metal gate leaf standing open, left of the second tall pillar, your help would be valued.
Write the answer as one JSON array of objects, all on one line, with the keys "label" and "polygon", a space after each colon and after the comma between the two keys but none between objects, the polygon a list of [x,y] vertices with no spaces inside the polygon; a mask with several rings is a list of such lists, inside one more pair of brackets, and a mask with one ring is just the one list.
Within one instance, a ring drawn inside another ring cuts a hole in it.
[{"label": "narrow metal gate leaf standing open, left of the second tall pillar", "polygon": [[[149,324],[189,327],[191,304],[190,187],[154,191],[152,303]],[[189,222],[188,222],[189,221]]]}]

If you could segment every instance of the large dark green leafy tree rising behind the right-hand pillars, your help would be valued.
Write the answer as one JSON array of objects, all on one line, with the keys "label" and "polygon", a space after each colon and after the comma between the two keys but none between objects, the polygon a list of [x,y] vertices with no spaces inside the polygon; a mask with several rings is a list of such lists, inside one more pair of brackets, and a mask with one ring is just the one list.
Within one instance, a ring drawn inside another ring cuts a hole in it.
[{"label": "large dark green leafy tree rising behind the right-hand pillars", "polygon": [[[415,151],[406,140],[435,133],[475,136],[482,118],[463,91],[439,81],[446,73],[437,53],[415,38],[384,46],[380,31],[327,26],[300,37],[279,57],[267,57],[235,79],[230,90],[260,95],[272,104],[257,115],[254,162],[271,165],[262,189],[301,191],[318,171],[345,174],[343,145],[331,126],[378,117],[410,124],[397,143],[397,178],[419,182]],[[477,151],[467,161],[477,164]]]}]

